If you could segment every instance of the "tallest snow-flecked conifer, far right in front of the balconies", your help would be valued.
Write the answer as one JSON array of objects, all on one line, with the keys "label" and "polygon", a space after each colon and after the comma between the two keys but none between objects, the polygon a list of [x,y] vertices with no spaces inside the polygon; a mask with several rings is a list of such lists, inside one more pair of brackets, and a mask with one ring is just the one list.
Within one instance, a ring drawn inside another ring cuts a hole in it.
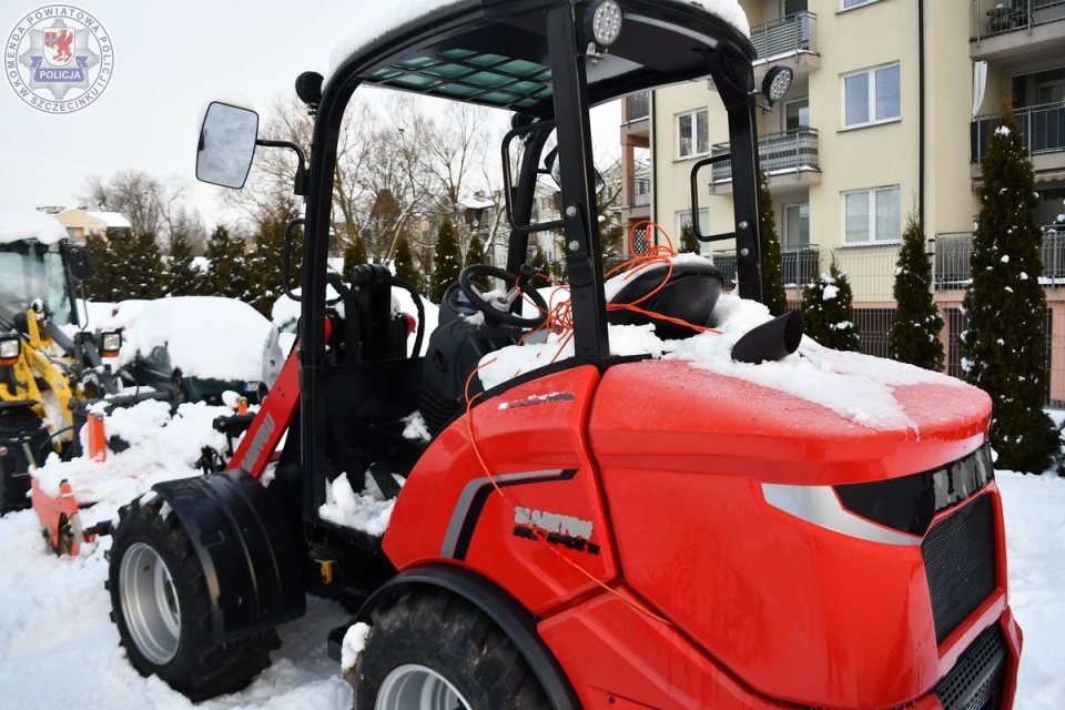
[{"label": "tallest snow-flecked conifer, far right in front of the balconies", "polygon": [[1057,430],[1043,412],[1043,233],[1032,163],[1008,105],[981,172],[984,186],[973,234],[973,280],[964,301],[968,325],[962,334],[962,366],[965,379],[991,395],[997,466],[1041,474],[1059,448]]}]

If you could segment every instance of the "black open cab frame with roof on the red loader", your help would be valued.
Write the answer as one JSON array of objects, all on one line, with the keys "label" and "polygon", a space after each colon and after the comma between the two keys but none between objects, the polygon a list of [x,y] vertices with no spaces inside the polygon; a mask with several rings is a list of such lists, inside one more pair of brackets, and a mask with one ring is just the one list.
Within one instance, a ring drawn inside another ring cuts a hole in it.
[{"label": "black open cab frame with roof on the red loader", "polygon": [[[363,84],[469,101],[515,111],[524,142],[508,204],[507,267],[526,261],[536,173],[551,124],[558,146],[562,230],[571,290],[574,363],[605,366],[610,354],[602,252],[596,220],[596,173],[589,108],[655,87],[710,75],[729,115],[739,292],[761,300],[761,236],[754,126],[753,47],[734,27],[698,7],[626,0],[617,41],[597,47],[589,24],[598,3],[582,0],[464,0],[434,10],[349,55],[315,97],[304,240],[301,321],[301,432],[304,519],[325,503],[329,427],[326,400],[325,293],[334,164],[341,121]],[[486,87],[496,87],[495,90]]]}]

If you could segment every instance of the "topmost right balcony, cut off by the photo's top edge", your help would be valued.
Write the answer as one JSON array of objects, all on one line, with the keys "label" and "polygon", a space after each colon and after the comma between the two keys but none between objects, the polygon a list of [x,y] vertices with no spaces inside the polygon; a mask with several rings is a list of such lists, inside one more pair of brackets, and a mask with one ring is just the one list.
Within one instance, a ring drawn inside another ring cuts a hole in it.
[{"label": "topmost right balcony, cut off by the photo's top edge", "polygon": [[1065,51],[1065,0],[976,0],[970,57],[993,61]]}]

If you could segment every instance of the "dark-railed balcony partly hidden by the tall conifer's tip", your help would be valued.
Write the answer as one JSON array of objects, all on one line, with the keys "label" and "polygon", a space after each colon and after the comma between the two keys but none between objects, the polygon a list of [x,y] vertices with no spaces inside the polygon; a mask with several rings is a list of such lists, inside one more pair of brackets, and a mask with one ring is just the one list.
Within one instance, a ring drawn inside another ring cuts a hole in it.
[{"label": "dark-railed balcony partly hidden by the tall conifer's tip", "polygon": [[[1032,158],[1036,180],[1059,179],[1065,174],[1065,106],[1053,103],[1015,109],[1013,116]],[[982,179],[980,161],[987,155],[991,136],[1001,122],[1001,115],[982,115],[970,124],[973,180]]]}]

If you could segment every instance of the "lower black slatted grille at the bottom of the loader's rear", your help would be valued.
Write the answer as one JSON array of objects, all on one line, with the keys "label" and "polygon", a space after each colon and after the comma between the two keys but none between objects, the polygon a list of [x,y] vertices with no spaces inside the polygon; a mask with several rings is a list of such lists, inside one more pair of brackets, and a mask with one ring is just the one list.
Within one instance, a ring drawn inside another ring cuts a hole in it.
[{"label": "lower black slatted grille at the bottom of the loader's rear", "polygon": [[1006,643],[997,623],[976,637],[935,687],[944,710],[998,710]]}]

